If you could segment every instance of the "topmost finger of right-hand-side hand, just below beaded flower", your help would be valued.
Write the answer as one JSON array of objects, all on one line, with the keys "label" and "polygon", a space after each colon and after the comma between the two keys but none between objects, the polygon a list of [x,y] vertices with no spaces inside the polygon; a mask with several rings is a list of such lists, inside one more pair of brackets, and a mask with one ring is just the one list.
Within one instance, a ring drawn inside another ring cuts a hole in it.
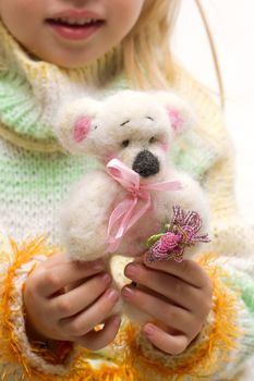
[{"label": "topmost finger of right-hand-side hand, just below beaded flower", "polygon": [[204,288],[209,283],[207,273],[191,259],[184,259],[182,262],[174,260],[150,262],[146,260],[145,256],[145,266],[178,276],[197,288]]}]

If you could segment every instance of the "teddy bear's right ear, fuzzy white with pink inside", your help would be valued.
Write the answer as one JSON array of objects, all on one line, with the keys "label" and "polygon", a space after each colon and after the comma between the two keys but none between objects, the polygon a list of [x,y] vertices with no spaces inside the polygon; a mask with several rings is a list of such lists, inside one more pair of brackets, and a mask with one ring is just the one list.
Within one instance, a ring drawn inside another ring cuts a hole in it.
[{"label": "teddy bear's right ear, fuzzy white with pink inside", "polygon": [[174,134],[182,134],[194,125],[193,112],[190,106],[180,97],[172,93],[160,91],[158,99],[166,109]]}]

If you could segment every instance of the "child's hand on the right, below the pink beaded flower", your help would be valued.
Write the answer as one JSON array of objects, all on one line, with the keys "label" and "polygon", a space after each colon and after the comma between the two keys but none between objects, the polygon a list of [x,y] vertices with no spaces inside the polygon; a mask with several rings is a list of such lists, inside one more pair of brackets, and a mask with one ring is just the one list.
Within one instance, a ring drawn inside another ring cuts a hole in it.
[{"label": "child's hand on the right, below the pink beaded flower", "polygon": [[168,354],[184,352],[211,309],[213,283],[203,268],[188,259],[144,260],[128,265],[125,275],[144,287],[123,287],[124,299],[156,320],[144,325],[147,339]]}]

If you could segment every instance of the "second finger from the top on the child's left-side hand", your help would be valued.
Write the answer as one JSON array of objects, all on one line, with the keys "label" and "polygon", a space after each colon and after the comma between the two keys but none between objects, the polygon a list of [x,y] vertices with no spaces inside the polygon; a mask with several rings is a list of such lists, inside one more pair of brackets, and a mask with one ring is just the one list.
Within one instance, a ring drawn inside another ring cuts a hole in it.
[{"label": "second finger from the top on the child's left-side hand", "polygon": [[110,275],[104,272],[78,287],[52,298],[50,300],[52,315],[59,320],[83,311],[105,292],[110,282]]}]

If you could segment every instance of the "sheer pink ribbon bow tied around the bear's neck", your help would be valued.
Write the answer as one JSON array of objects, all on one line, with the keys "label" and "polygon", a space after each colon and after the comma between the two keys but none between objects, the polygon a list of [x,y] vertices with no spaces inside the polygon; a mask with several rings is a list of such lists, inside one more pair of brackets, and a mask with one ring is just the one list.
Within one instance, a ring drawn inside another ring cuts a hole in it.
[{"label": "sheer pink ribbon bow tied around the bear's neck", "polygon": [[[107,233],[108,250],[109,253],[114,253],[126,231],[152,207],[149,190],[179,190],[182,188],[182,185],[178,181],[141,184],[140,174],[118,159],[112,159],[107,163],[107,173],[130,193],[129,197],[123,199],[113,209],[109,218]],[[143,200],[144,205],[136,208],[140,200]],[[114,228],[116,230],[117,222],[119,223],[117,233],[112,234],[112,229]]]}]

